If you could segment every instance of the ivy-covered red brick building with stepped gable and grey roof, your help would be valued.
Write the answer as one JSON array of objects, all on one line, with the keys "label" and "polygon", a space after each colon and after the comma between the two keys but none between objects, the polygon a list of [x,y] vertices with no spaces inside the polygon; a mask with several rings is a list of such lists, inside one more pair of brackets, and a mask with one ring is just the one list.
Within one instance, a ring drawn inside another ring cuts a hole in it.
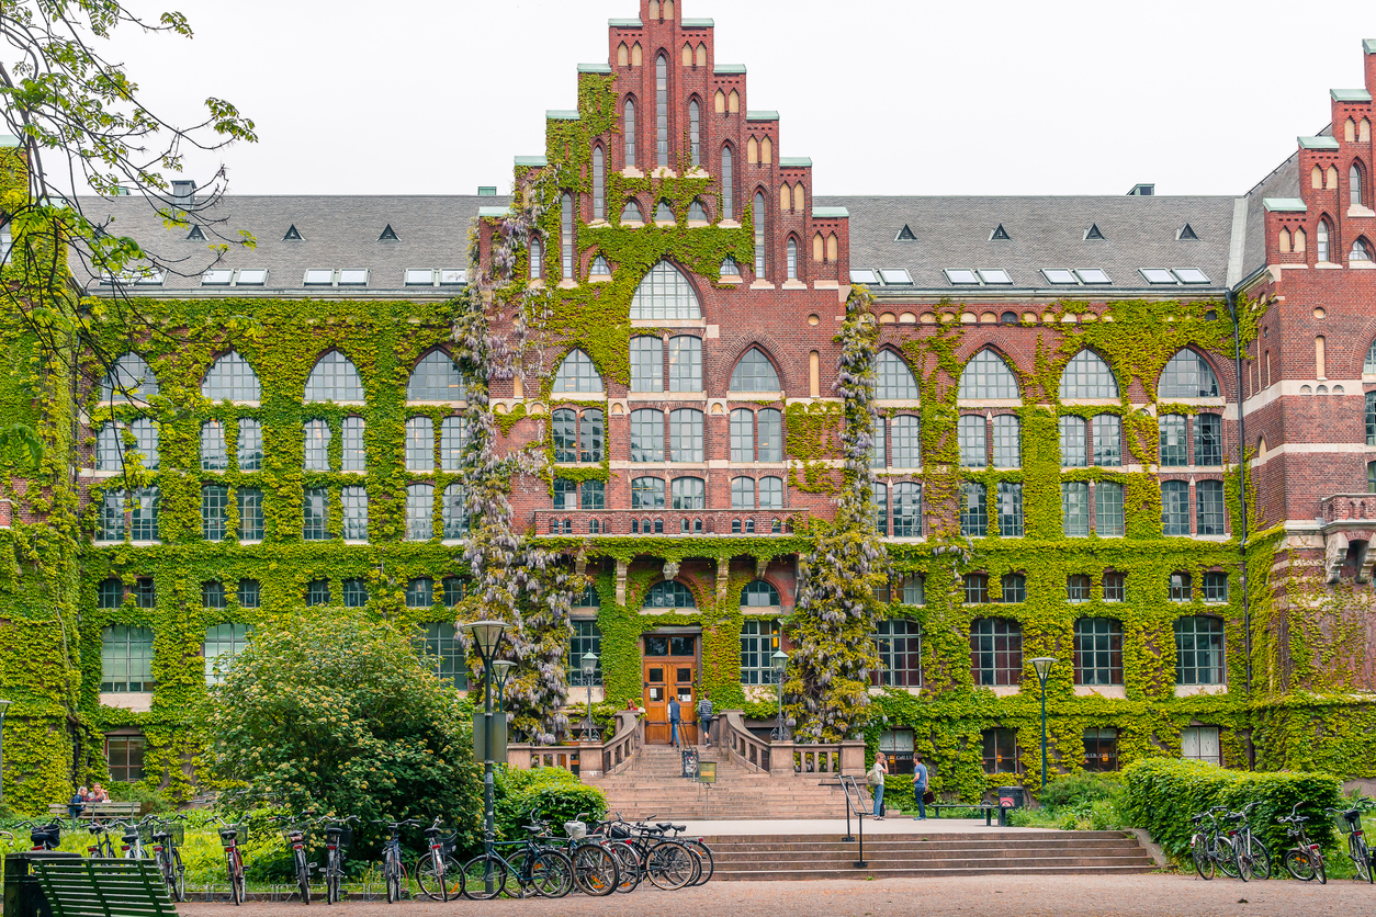
[{"label": "ivy-covered red brick building with stepped gable and grey roof", "polygon": [[256,250],[76,278],[81,371],[0,323],[47,445],[0,480],[8,799],[191,795],[237,648],[340,606],[458,689],[509,620],[537,744],[589,687],[766,731],[782,650],[798,741],[974,797],[1039,780],[1046,656],[1055,773],[1376,775],[1369,93],[1236,198],[815,198],[682,12],[610,23],[509,198],[227,198]]}]

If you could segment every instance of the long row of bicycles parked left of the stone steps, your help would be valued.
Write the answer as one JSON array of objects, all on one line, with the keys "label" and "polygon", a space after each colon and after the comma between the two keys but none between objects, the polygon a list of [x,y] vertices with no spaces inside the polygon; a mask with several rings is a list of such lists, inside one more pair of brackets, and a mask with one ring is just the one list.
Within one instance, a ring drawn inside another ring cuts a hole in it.
[{"label": "long row of bicycles parked left of the stone steps", "polygon": [[[402,901],[414,879],[420,894],[432,901],[488,901],[502,895],[513,898],[563,898],[571,891],[604,896],[629,894],[643,883],[663,891],[702,885],[716,870],[711,850],[700,837],[685,837],[684,825],[671,822],[629,822],[616,818],[589,824],[586,814],[564,822],[564,837],[555,837],[550,824],[530,813],[526,836],[516,840],[494,841],[491,852],[483,852],[466,863],[454,858],[458,847],[457,832],[449,832],[436,818],[425,828],[417,819],[374,819],[385,833],[383,841],[383,880],[387,901]],[[226,879],[230,901],[239,905],[248,895],[248,879],[242,848],[249,843],[246,824],[228,824],[212,817],[224,850]],[[356,815],[347,818],[308,814],[274,819],[290,851],[296,885],[303,903],[311,903],[314,890],[323,879],[325,899],[336,903],[343,896],[344,858],[354,843]],[[62,840],[62,826],[56,822],[21,822],[30,829],[33,850],[56,850]],[[402,833],[407,828],[422,828],[425,850],[407,870],[402,848]],[[153,859],[166,883],[168,894],[178,902],[186,901],[186,866],[180,847],[186,828],[178,819],[149,817],[140,821],[92,822],[87,830],[92,857]],[[116,843],[118,837],[118,844]],[[323,841],[325,862],[314,861],[315,841]]]}]

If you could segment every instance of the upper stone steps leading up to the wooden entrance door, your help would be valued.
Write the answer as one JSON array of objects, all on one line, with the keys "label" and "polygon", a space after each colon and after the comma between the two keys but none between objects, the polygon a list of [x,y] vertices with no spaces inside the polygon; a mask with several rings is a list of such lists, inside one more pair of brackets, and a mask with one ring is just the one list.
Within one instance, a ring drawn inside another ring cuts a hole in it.
[{"label": "upper stone steps leading up to the wooden entrance door", "polygon": [[846,797],[831,774],[771,778],[733,760],[724,748],[699,749],[717,763],[717,784],[706,789],[684,780],[680,751],[641,745],[636,760],[619,774],[585,777],[607,793],[608,807],[627,819],[740,821],[845,818]]}]

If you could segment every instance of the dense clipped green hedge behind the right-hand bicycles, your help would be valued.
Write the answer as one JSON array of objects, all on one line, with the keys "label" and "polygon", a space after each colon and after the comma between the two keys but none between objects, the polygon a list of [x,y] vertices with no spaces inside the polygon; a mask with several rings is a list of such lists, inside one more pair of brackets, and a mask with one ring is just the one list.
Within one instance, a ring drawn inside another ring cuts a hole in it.
[{"label": "dense clipped green hedge behind the right-hand bicycles", "polygon": [[1194,833],[1192,815],[1214,806],[1237,811],[1252,802],[1258,803],[1251,817],[1252,833],[1266,843],[1277,862],[1291,844],[1285,826],[1277,825],[1276,819],[1289,815],[1295,803],[1300,804],[1300,814],[1310,819],[1310,839],[1329,850],[1336,847],[1324,808],[1339,806],[1342,792],[1339,780],[1329,774],[1249,773],[1203,762],[1152,758],[1123,771],[1123,782],[1124,813],[1174,857],[1189,852],[1190,835]]}]

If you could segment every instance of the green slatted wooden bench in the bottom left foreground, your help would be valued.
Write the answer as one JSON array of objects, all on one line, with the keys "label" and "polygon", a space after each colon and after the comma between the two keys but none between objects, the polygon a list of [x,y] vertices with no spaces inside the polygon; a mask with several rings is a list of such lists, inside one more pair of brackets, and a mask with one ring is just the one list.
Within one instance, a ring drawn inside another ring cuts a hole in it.
[{"label": "green slatted wooden bench in the bottom left foreground", "polygon": [[39,859],[30,869],[52,917],[176,917],[150,859]]}]

